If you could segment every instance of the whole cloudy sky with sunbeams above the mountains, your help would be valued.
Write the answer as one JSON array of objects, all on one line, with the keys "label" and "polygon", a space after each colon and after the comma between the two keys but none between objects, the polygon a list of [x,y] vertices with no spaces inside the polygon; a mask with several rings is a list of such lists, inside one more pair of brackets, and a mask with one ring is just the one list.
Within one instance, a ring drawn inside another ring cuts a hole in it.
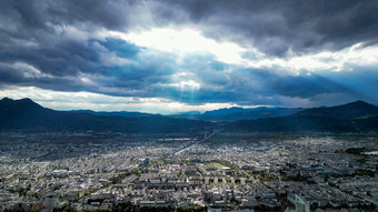
[{"label": "whole cloudy sky with sunbeams above the mountains", "polygon": [[378,1],[3,0],[0,98],[178,113],[378,104]]}]

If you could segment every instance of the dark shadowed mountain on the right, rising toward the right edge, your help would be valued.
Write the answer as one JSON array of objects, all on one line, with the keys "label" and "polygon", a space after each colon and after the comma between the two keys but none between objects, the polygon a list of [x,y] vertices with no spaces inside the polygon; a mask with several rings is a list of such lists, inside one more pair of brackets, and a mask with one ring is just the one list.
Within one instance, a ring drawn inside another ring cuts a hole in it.
[{"label": "dark shadowed mountain on the right, rising toward the right edge", "polygon": [[367,132],[378,130],[378,107],[357,101],[314,108],[292,115],[240,120],[226,127],[232,132]]}]

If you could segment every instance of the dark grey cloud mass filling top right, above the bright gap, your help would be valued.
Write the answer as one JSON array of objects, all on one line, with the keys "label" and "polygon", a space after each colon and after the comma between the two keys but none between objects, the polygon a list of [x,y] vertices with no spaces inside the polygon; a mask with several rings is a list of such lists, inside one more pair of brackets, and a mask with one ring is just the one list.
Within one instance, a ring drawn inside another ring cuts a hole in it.
[{"label": "dark grey cloud mass filling top right, above the bright gap", "polygon": [[171,1],[192,21],[207,26],[208,37],[253,44],[262,52],[284,55],[357,42],[377,43],[378,2],[354,0],[195,0]]}]

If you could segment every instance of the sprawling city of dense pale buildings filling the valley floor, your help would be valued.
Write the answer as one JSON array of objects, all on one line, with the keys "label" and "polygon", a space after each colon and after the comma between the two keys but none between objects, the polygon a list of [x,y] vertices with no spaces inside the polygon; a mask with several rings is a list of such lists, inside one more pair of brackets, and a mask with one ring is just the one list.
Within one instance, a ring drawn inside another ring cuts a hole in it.
[{"label": "sprawling city of dense pale buildings filling the valley floor", "polygon": [[0,211],[97,211],[126,203],[168,211],[338,211],[378,204],[377,155],[347,153],[376,147],[375,139],[171,137],[1,134]]}]

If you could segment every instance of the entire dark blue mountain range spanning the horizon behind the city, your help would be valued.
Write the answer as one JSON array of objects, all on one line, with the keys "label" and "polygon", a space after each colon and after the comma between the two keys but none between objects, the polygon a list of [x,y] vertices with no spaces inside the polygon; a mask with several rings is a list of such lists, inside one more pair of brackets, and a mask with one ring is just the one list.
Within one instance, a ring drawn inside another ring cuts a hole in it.
[{"label": "entire dark blue mountain range spanning the horizon behind the city", "polygon": [[[189,115],[197,115],[198,120],[182,119]],[[0,131],[94,130],[168,133],[196,132],[219,125],[201,121],[203,118],[198,118],[200,115],[227,121],[221,125],[223,131],[229,132],[367,132],[378,130],[378,107],[364,101],[311,109],[230,108],[208,111],[203,114],[192,112],[175,117],[126,111],[56,111],[43,108],[30,99],[4,98],[0,100]],[[229,118],[226,119],[227,117]],[[237,120],[238,117],[239,120]]]}]

